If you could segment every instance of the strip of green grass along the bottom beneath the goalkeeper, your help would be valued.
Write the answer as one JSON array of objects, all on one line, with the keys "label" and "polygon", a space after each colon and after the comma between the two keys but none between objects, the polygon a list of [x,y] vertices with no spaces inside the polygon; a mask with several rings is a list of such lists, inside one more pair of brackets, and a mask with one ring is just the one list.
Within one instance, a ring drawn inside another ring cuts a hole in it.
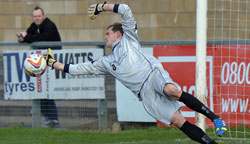
[{"label": "strip of green grass along the bottom beneath the goalkeeper", "polygon": [[[215,139],[220,144],[249,144],[247,140]],[[0,128],[0,144],[190,144],[177,128],[148,128],[111,132],[81,132],[49,128]]]}]

